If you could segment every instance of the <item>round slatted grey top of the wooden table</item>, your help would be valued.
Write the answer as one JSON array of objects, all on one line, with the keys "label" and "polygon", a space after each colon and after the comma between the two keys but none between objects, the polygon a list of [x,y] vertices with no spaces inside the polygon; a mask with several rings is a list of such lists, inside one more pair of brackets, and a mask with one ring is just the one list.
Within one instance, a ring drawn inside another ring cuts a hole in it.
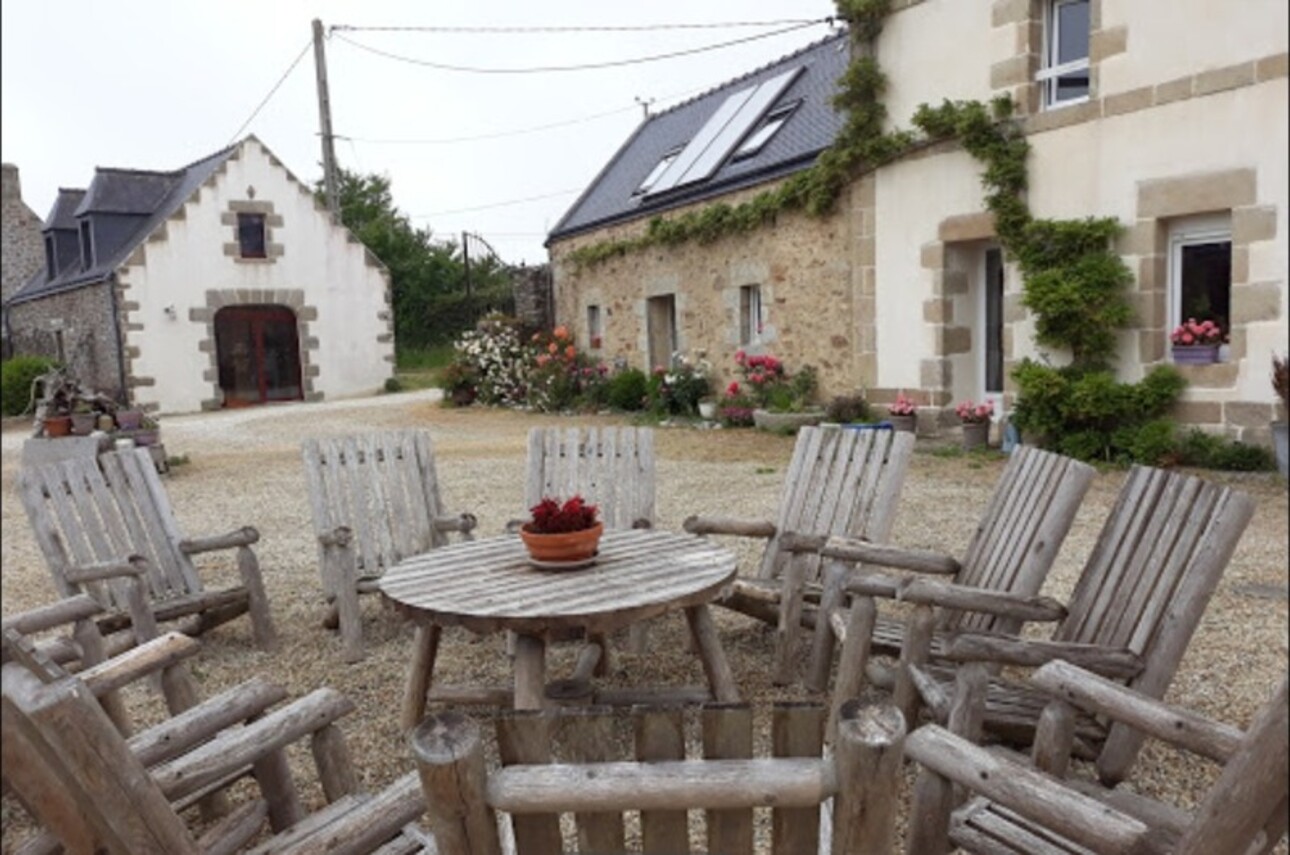
[{"label": "round slatted grey top of the wooden table", "polygon": [[519,535],[502,535],[406,558],[379,587],[408,616],[440,625],[610,632],[711,602],[734,580],[737,561],[729,549],[691,534],[626,529],[605,531],[590,567],[539,570]]}]

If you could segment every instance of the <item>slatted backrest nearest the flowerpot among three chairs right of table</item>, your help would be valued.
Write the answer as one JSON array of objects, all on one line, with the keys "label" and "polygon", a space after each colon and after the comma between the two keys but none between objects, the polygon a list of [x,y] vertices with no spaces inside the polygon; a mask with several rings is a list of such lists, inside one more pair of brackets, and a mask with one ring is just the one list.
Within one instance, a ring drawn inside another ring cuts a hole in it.
[{"label": "slatted backrest nearest the flowerpot among three chairs right of table", "polygon": [[[759,578],[779,578],[789,556],[784,533],[849,535],[885,543],[913,454],[913,436],[895,431],[804,427],[780,494],[775,535],[762,553]],[[810,580],[819,573],[819,562]]]}]

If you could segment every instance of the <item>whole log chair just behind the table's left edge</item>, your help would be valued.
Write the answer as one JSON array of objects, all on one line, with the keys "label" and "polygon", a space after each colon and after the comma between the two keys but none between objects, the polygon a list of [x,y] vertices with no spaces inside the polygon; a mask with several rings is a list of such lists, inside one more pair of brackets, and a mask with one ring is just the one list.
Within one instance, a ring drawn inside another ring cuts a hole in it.
[{"label": "whole log chair just behind the table's left edge", "polygon": [[346,662],[365,656],[359,596],[408,556],[472,539],[473,515],[449,513],[440,495],[428,431],[307,438],[301,445],[319,567],[328,598],[324,625],[339,627]]}]

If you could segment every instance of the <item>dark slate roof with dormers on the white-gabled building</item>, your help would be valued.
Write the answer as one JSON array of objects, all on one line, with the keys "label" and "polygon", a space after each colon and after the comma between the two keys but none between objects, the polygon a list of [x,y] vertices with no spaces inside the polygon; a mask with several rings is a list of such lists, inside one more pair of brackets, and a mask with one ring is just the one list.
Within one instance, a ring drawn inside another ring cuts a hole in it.
[{"label": "dark slate roof with dormers on the white-gabled building", "polygon": [[59,190],[58,200],[45,221],[45,231],[75,230],[77,217],[93,214],[130,217],[138,226],[117,239],[116,245],[104,245],[106,241],[102,239],[108,230],[95,232],[95,258],[89,270],[84,270],[76,259],[61,266],[58,275],[48,280],[46,271],[41,268],[9,298],[8,303],[26,303],[106,281],[130,257],[130,253],[147,240],[148,235],[169,219],[203,182],[228,160],[240,144],[221,148],[173,172],[99,168],[94,170],[94,181],[86,190]]}]

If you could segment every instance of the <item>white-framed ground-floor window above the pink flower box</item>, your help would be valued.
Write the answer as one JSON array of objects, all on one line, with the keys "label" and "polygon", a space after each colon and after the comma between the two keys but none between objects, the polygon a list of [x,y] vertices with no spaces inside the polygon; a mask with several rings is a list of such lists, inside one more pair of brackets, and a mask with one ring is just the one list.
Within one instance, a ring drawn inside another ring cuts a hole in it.
[{"label": "white-framed ground-floor window above the pink flower box", "polygon": [[1214,321],[1224,337],[1232,319],[1232,218],[1184,217],[1169,224],[1169,329],[1188,319]]}]

